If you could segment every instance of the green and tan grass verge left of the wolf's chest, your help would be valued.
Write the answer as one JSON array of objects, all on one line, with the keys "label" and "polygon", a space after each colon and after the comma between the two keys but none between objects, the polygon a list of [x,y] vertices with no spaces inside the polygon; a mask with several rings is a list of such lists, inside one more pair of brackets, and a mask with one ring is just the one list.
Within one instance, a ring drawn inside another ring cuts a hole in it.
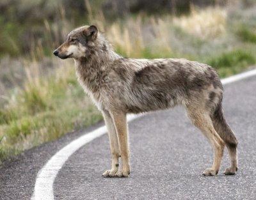
[{"label": "green and tan grass verge left of the wolf's chest", "polygon": [[74,68],[65,70],[62,77],[34,80],[10,95],[0,112],[0,162],[102,119],[76,81]]}]

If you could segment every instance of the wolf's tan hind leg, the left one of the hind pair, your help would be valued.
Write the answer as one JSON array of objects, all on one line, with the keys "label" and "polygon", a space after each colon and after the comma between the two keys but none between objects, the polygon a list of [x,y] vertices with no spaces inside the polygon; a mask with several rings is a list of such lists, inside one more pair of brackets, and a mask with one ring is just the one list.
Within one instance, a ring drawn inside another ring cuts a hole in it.
[{"label": "wolf's tan hind leg, the left one of the hind pair", "polygon": [[221,158],[223,157],[223,151],[225,143],[221,139],[220,135],[216,132],[212,125],[212,120],[207,111],[200,109],[191,109],[188,107],[188,114],[193,124],[201,130],[201,132],[207,137],[214,149],[214,161],[212,167],[205,169],[204,176],[215,176],[218,174],[221,164]]}]

